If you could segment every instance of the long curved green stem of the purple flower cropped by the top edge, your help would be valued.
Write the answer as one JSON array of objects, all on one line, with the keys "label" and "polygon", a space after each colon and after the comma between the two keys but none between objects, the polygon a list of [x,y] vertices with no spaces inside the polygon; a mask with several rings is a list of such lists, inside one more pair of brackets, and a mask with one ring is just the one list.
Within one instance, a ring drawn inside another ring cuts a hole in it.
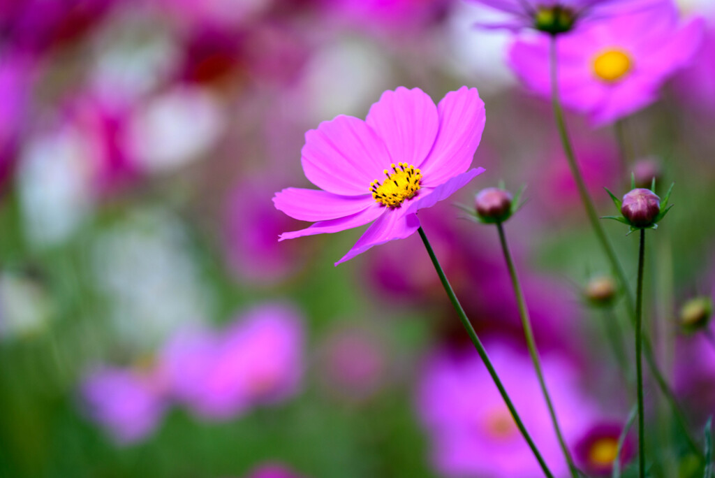
[{"label": "long curved green stem of the purple flower cropped by the top edge", "polygon": [[[618,278],[618,282],[620,283],[621,290],[623,291],[624,295],[626,296],[626,306],[628,307],[628,316],[631,318],[635,317],[635,309],[633,308],[633,293],[631,293],[631,289],[628,287],[628,280],[626,278],[626,272],[623,270],[623,267],[621,266],[621,263],[618,261],[618,258],[616,257],[616,252],[613,250],[613,246],[611,246],[611,243],[608,241],[608,238],[606,237],[606,233],[601,227],[601,223],[598,220],[598,214],[596,213],[596,208],[593,205],[593,201],[591,200],[591,195],[588,194],[588,190],[586,189],[586,183],[583,181],[583,175],[581,175],[581,170],[578,167],[578,163],[576,162],[576,155],[573,152],[573,146],[571,145],[571,139],[568,136],[568,130],[566,130],[566,121],[563,117],[563,109],[561,108],[561,102],[559,101],[558,97],[558,55],[556,54],[556,36],[552,36],[551,39],[551,100],[553,104],[553,113],[554,116],[556,116],[556,125],[558,126],[558,132],[559,135],[561,135],[561,142],[563,144],[563,151],[566,152],[566,159],[568,160],[568,165],[571,167],[571,174],[573,175],[573,179],[576,180],[576,186],[578,187],[578,194],[581,196],[581,202],[583,203],[584,208],[586,208],[586,215],[588,216],[588,220],[591,222],[591,227],[593,228],[593,232],[596,233],[596,238],[598,239],[598,243],[601,244],[601,248],[603,249],[603,252],[606,253],[606,257],[608,258],[608,262],[611,263],[611,269],[613,270],[613,274],[616,275]],[[631,323],[633,326],[635,326],[635,321],[632,320]],[[701,452],[701,449],[698,447],[696,444],[695,440],[692,438],[690,435],[690,431],[688,429],[687,421],[685,419],[685,416],[680,409],[680,406],[678,404],[678,401],[676,400],[675,394],[671,390],[668,382],[664,378],[662,372],[660,371],[658,364],[656,363],[656,359],[654,358],[653,355],[653,348],[651,347],[651,342],[649,340],[648,336],[642,337],[643,340],[643,348],[644,348],[644,356],[646,358],[646,363],[649,366],[649,369],[651,370],[651,373],[654,376],[654,379],[656,379],[656,383],[658,384],[659,388],[661,389],[661,392],[664,394],[666,399],[669,401],[669,404],[671,406],[671,409],[673,410],[676,419],[681,426],[681,428],[684,431],[684,434],[686,436],[686,439],[688,441],[689,447],[691,450],[703,461],[705,459],[705,456],[703,452]]]}]

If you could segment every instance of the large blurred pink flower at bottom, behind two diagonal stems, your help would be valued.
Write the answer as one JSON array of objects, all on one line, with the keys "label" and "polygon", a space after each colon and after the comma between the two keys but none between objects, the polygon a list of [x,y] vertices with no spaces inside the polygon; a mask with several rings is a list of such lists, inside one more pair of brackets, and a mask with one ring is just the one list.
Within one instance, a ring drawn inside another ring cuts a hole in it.
[{"label": "large blurred pink flower at bottom, behind two diagonal stems", "polygon": [[[489,355],[526,428],[556,476],[568,473],[528,356],[492,344]],[[571,366],[545,356],[543,370],[566,442],[583,436],[595,414],[576,388]],[[432,356],[418,394],[418,410],[433,444],[433,462],[448,477],[531,478],[541,473],[523,436],[475,353]],[[573,446],[573,445],[572,445]]]}]

